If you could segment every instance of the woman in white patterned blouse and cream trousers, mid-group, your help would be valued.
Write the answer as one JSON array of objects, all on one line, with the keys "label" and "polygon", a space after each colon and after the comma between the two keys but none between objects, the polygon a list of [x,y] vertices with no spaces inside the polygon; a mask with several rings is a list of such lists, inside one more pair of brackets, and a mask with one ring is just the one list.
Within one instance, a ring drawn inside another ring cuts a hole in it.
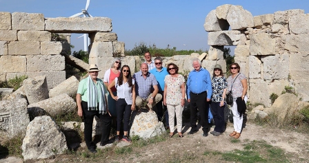
[{"label": "woman in white patterned blouse and cream trousers, mid-group", "polygon": [[175,113],[177,119],[178,137],[183,138],[182,129],[182,111],[185,105],[185,78],[178,74],[178,66],[174,63],[168,64],[168,74],[164,78],[163,104],[168,107],[168,120],[170,124],[170,138],[174,135]]}]

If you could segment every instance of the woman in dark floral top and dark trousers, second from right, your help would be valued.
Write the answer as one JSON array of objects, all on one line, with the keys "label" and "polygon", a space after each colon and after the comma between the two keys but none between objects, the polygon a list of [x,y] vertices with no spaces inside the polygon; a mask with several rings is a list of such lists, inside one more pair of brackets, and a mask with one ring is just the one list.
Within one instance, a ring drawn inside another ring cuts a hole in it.
[{"label": "woman in dark floral top and dark trousers, second from right", "polygon": [[224,98],[226,98],[226,89],[228,87],[228,82],[223,76],[221,65],[215,65],[214,72],[212,74],[212,97],[211,97],[211,110],[212,115],[215,120],[215,129],[210,133],[215,136],[221,135],[223,133],[224,124]]}]

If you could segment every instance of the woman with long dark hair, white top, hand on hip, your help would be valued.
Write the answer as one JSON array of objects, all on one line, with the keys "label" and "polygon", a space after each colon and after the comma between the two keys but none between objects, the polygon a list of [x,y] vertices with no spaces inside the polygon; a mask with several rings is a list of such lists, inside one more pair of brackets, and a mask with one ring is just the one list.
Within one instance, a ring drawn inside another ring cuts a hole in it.
[{"label": "woman with long dark hair, white top, hand on hip", "polygon": [[117,111],[117,137],[115,141],[120,139],[121,122],[123,121],[123,141],[131,142],[128,138],[129,121],[132,110],[135,109],[135,86],[132,79],[130,67],[123,65],[121,67],[119,78],[114,78],[112,83],[108,85],[108,91],[112,93],[112,87],[117,89],[117,96],[112,94],[112,98],[116,100]]}]

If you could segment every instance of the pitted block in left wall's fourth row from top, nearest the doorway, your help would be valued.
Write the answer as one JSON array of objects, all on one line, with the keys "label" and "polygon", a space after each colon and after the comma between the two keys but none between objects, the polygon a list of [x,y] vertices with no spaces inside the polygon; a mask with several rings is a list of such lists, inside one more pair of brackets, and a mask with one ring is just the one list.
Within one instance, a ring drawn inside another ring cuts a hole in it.
[{"label": "pitted block in left wall's fourth row from top, nearest the doorway", "polygon": [[61,71],[65,69],[65,58],[61,55],[29,55],[27,71]]}]

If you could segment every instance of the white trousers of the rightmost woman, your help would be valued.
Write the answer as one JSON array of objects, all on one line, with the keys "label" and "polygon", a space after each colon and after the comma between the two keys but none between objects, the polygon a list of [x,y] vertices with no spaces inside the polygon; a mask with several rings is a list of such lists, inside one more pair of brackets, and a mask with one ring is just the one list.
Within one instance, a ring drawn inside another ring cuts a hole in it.
[{"label": "white trousers of the rightmost woman", "polygon": [[[247,96],[244,98],[245,102],[247,103]],[[243,115],[239,116],[239,112],[237,111],[237,103],[236,98],[233,100],[233,104],[230,106],[230,109],[233,113],[233,124],[234,124],[234,131],[237,133],[241,133],[241,129],[243,127]]]}]

